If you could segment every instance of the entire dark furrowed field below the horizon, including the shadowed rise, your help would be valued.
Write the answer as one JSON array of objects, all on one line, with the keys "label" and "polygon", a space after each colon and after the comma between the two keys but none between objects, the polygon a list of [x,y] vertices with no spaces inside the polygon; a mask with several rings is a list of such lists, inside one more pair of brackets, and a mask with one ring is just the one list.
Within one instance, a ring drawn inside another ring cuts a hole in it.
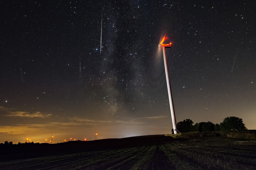
[{"label": "entire dark furrowed field below the horizon, including the shadowed rise", "polygon": [[256,140],[164,135],[1,146],[0,169],[256,169]]}]

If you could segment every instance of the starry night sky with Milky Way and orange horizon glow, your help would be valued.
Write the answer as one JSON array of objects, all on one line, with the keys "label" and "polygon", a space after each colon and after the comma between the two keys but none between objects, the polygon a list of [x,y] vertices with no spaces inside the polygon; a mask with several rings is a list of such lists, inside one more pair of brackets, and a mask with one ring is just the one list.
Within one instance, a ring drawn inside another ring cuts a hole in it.
[{"label": "starry night sky with Milky Way and orange horizon glow", "polygon": [[165,34],[177,122],[256,129],[256,1],[0,6],[0,143],[170,134]]}]

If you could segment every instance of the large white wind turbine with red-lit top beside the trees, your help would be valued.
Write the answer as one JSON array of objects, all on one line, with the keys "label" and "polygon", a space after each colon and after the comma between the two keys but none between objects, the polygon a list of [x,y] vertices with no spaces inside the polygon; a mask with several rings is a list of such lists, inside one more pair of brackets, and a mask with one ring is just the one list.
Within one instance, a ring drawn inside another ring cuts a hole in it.
[{"label": "large white wind turbine with red-lit top beside the trees", "polygon": [[176,123],[176,117],[175,117],[175,112],[174,112],[174,104],[172,100],[172,93],[171,93],[171,85],[170,85],[170,80],[169,80],[169,72],[168,72],[168,66],[167,66],[167,60],[166,60],[166,52],[165,52],[165,47],[170,48],[171,47],[171,42],[170,44],[162,44],[165,40],[168,38],[164,36],[158,47],[163,49],[163,55],[164,55],[164,64],[165,64],[165,76],[166,76],[166,83],[167,83],[167,89],[168,89],[168,96],[169,96],[169,103],[170,103],[170,109],[171,109],[171,117],[172,117],[172,126],[174,128],[174,134],[177,134],[177,123]]}]

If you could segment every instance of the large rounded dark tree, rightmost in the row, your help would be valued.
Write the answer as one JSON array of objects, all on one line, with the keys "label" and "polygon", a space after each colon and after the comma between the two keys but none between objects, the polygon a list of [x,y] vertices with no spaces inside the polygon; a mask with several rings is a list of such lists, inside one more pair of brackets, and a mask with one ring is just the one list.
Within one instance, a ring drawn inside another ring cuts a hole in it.
[{"label": "large rounded dark tree, rightmost in the row", "polygon": [[238,117],[226,117],[223,122],[220,123],[220,129],[225,130],[247,130],[245,124],[241,118]]}]

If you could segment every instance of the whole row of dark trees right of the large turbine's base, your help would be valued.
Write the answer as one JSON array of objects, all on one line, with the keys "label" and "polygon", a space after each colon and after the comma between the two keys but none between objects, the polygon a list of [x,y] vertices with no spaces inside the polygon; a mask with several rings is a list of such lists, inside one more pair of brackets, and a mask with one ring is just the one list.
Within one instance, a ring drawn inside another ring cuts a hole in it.
[{"label": "whole row of dark trees right of the large turbine's base", "polygon": [[200,122],[194,124],[192,120],[186,119],[177,123],[177,129],[181,133],[185,132],[219,132],[230,130],[247,130],[241,118],[226,117],[220,124],[213,124],[212,122]]}]

